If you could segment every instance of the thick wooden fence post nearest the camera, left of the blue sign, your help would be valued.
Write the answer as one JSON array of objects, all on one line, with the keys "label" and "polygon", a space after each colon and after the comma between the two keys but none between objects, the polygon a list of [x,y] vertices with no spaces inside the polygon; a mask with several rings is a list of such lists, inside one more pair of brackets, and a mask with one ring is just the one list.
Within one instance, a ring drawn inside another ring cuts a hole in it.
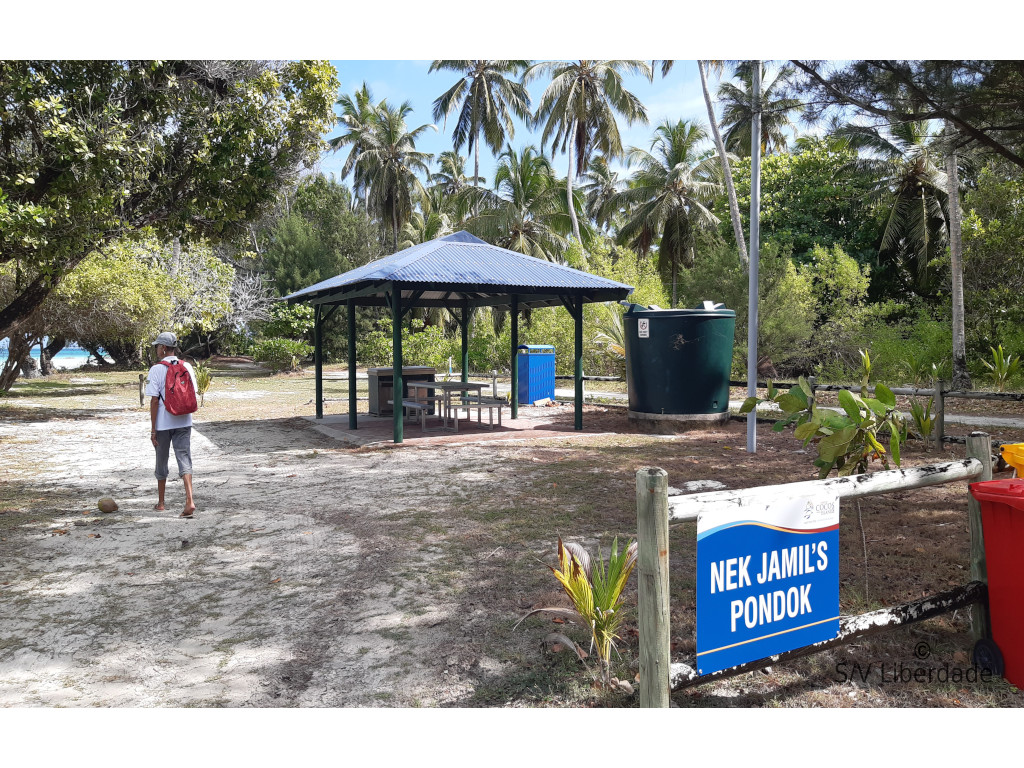
[{"label": "thick wooden fence post nearest the camera, left of the blue sign", "polygon": [[669,706],[669,475],[637,470],[640,706]]}]

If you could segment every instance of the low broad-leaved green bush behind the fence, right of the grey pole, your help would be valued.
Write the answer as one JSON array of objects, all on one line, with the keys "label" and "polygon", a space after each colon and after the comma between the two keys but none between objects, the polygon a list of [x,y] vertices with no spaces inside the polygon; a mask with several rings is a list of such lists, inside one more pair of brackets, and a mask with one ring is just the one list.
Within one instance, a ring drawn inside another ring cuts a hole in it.
[{"label": "low broad-leaved green bush behind the fence, right of the grey pole", "polygon": [[[748,397],[740,414],[748,414],[759,402],[774,402],[783,418],[772,431],[796,427],[794,436],[804,446],[813,444],[818,452],[814,466],[818,476],[827,477],[835,469],[841,477],[867,471],[873,461],[889,469],[889,457],[900,464],[900,444],[906,440],[906,425],[896,411],[896,395],[884,384],[874,389],[874,397],[862,397],[840,390],[839,402],[844,413],[821,409],[814,401],[810,384],[803,376],[797,386],[782,392],[768,382],[768,397]],[[882,440],[888,436],[888,450]]]}]

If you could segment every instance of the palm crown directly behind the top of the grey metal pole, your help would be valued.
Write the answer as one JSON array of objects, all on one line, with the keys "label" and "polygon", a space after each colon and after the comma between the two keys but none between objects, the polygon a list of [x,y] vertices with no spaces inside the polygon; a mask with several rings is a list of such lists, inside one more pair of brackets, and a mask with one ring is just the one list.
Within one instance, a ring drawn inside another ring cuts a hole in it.
[{"label": "palm crown directly behind the top of the grey metal pole", "polygon": [[[751,154],[751,127],[753,125],[755,61],[736,66],[734,76],[740,85],[722,83],[718,98],[723,103],[722,127],[725,129],[725,148],[745,158]],[[761,152],[770,155],[785,148],[785,128],[793,125],[791,116],[803,109],[799,99],[781,95],[795,70],[786,65],[768,78],[768,68],[761,65]]]}]

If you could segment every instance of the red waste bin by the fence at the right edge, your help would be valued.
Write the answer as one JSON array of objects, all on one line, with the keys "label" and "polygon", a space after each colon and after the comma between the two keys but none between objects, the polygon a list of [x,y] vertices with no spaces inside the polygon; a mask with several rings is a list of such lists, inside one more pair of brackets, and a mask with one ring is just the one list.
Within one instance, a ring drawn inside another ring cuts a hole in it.
[{"label": "red waste bin by the fence at the right edge", "polygon": [[1001,654],[1002,677],[1024,688],[1024,479],[974,482],[971,495],[981,505],[995,655]]}]

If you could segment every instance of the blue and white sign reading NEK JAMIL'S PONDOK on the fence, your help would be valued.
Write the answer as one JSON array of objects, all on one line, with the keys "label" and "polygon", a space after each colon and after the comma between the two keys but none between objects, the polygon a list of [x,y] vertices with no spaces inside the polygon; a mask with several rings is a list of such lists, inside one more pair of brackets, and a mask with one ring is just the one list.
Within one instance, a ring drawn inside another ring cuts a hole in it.
[{"label": "blue and white sign reading NEK JAMIL'S PONDOK on the fence", "polygon": [[697,674],[839,635],[839,499],[753,495],[697,519]]}]

